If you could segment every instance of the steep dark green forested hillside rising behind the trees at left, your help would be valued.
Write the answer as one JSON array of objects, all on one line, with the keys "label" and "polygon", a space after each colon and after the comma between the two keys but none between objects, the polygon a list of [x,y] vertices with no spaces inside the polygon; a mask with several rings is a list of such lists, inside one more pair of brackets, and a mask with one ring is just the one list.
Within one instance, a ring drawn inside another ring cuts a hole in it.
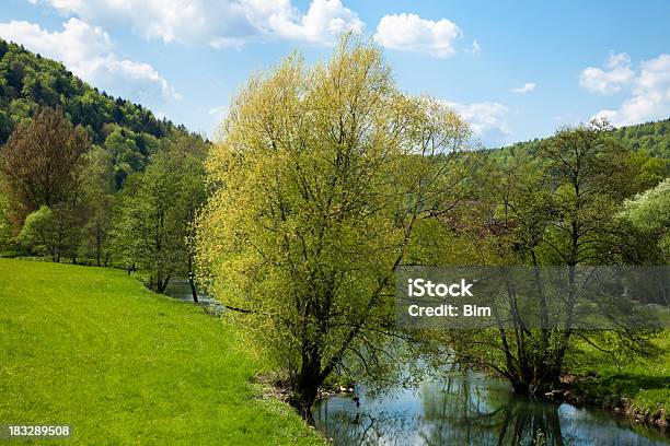
[{"label": "steep dark green forested hillside rising behind the trees at left", "polygon": [[188,133],[139,104],[86,84],[62,63],[0,38],[0,145],[19,122],[47,106],[61,108],[112,155],[117,187],[127,175],[145,168],[162,138]]}]

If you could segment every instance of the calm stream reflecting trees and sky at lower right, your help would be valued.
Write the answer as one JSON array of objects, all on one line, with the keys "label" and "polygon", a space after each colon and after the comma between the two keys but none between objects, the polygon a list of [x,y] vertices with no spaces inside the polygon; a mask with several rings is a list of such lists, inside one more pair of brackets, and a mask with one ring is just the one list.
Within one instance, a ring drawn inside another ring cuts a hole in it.
[{"label": "calm stream reflecting trees and sky at lower right", "polygon": [[320,400],[317,429],[335,445],[668,445],[658,430],[616,414],[532,401],[501,380],[452,373],[417,388]]}]

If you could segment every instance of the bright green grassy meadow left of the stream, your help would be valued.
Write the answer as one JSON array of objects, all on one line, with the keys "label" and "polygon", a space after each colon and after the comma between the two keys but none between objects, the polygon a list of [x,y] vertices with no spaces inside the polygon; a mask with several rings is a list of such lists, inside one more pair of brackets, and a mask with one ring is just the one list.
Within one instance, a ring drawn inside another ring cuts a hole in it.
[{"label": "bright green grassy meadow left of the stream", "polygon": [[232,334],[123,271],[0,259],[0,424],[69,424],[77,444],[322,444],[258,398]]}]

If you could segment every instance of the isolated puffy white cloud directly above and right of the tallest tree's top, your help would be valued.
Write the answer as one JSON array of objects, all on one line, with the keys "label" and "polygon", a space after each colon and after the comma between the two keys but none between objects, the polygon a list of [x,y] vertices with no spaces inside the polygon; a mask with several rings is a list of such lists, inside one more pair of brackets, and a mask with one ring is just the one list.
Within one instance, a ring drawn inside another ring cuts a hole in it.
[{"label": "isolated puffy white cloud directly above and right of the tallest tree's top", "polygon": [[377,25],[374,39],[386,48],[446,58],[455,52],[453,45],[462,34],[461,28],[447,19],[436,22],[402,13],[384,15]]}]

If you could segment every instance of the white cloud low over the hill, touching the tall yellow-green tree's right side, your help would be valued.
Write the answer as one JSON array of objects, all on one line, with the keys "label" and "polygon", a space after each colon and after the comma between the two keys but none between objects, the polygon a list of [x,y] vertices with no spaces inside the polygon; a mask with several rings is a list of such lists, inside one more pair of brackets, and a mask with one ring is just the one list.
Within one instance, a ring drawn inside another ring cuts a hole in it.
[{"label": "white cloud low over the hill, touching the tall yellow-green tree's right side", "polygon": [[510,110],[505,105],[497,102],[446,104],[470,124],[473,134],[487,146],[500,146],[510,142],[512,132],[505,119]]}]

